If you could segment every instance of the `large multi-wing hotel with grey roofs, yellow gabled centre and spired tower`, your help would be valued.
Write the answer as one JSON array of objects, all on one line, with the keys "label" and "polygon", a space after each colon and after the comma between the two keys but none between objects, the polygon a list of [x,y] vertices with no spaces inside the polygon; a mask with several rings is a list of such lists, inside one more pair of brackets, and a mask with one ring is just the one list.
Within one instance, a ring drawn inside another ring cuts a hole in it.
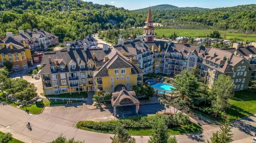
[{"label": "large multi-wing hotel with grey roofs, yellow gabled centre and spired tower", "polygon": [[151,10],[148,12],[143,37],[118,40],[117,45],[98,48],[88,43],[69,43],[67,49],[43,55],[44,93],[60,94],[81,91],[114,92],[119,85],[132,90],[141,85],[143,74],[177,75],[183,70],[200,70],[201,80],[212,87],[218,75],[232,77],[234,90],[248,88],[256,78],[256,43],[217,49],[170,41],[155,41]]}]

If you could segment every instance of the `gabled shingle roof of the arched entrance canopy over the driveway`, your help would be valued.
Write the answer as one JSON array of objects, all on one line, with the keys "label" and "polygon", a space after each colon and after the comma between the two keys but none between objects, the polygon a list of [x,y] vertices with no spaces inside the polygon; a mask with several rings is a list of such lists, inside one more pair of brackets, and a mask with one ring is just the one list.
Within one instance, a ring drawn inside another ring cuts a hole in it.
[{"label": "gabled shingle roof of the arched entrance canopy over the driveway", "polygon": [[[130,99],[131,102],[121,102],[123,99]],[[135,91],[126,91],[125,88],[123,88],[120,92],[112,93],[112,106],[124,106],[139,103],[140,102],[136,96]]]}]

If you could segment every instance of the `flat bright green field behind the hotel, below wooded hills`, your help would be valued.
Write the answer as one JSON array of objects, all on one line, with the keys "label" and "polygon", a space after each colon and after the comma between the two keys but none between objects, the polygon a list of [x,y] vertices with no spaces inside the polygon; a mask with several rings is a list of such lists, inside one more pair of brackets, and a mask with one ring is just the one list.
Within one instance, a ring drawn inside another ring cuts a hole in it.
[{"label": "flat bright green field behind the hotel, below wooded hills", "polygon": [[[170,37],[171,34],[177,33],[178,36],[186,36],[186,37],[196,37],[203,38],[207,37],[207,34],[210,33],[211,30],[187,30],[187,29],[156,29],[155,33],[157,34],[156,38]],[[230,33],[228,31],[220,31],[221,37],[225,40],[230,40],[232,38],[236,38],[239,41],[256,41],[256,34],[243,34],[243,33]]]}]

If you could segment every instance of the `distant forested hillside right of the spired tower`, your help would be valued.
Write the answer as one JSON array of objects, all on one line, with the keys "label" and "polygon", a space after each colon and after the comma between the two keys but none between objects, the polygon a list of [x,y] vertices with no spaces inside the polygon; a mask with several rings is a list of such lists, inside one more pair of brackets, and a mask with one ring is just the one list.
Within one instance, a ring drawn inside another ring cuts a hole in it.
[{"label": "distant forested hillside right of the spired tower", "polygon": [[[140,11],[140,10],[139,10]],[[256,33],[256,5],[210,10],[152,10],[155,22],[171,28],[216,28],[242,33]],[[144,13],[146,12],[139,12]]]}]

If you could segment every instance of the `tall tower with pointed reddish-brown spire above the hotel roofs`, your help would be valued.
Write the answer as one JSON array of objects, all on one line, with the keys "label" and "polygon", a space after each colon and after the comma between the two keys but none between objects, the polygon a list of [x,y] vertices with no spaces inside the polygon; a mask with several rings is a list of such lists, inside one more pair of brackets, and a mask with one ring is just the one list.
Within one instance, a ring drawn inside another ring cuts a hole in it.
[{"label": "tall tower with pointed reddish-brown spire above the hotel roofs", "polygon": [[155,27],[153,26],[153,21],[152,21],[152,16],[151,16],[151,8],[148,10],[147,19],[145,22],[145,26],[143,28],[144,28],[143,36],[145,37],[145,42],[154,41]]}]

